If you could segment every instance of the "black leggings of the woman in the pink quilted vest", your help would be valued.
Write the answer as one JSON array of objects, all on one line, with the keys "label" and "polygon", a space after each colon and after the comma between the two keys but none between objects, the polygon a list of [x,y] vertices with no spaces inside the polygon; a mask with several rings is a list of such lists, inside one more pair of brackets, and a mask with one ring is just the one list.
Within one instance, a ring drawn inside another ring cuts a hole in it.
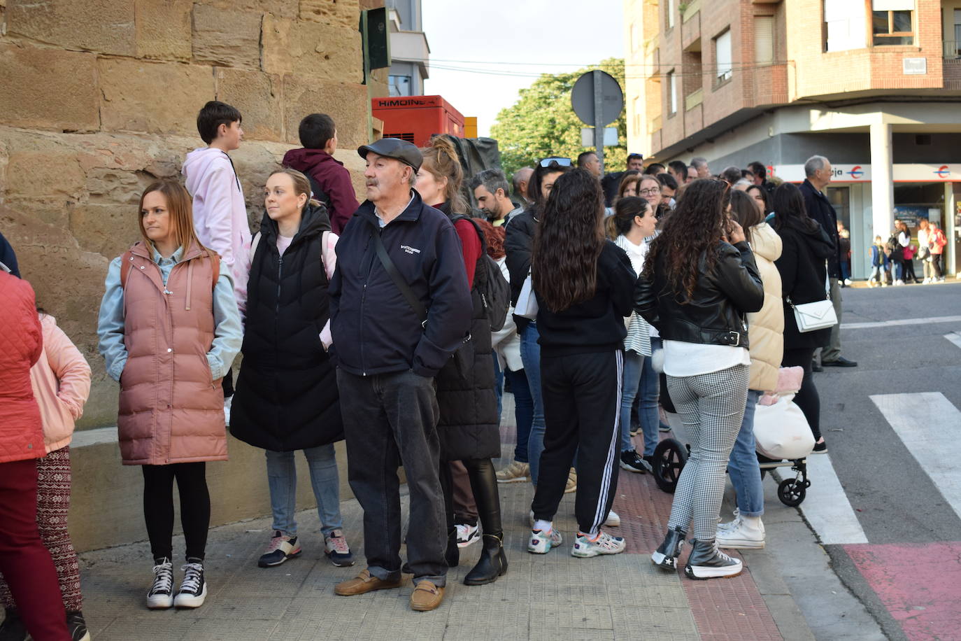
[{"label": "black leggings of the woman in the pink quilted vest", "polygon": [[174,479],[181,497],[187,558],[204,559],[210,527],[210,493],[207,463],[142,465],[143,518],[147,522],[150,552],[155,560],[173,558]]}]

